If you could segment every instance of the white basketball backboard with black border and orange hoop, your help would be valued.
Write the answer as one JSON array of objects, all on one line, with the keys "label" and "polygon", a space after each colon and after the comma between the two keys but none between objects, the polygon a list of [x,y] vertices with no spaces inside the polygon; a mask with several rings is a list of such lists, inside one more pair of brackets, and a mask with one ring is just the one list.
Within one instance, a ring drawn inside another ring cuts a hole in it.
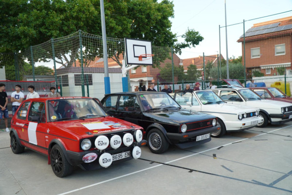
[{"label": "white basketball backboard with black border and orange hoop", "polygon": [[128,65],[153,65],[151,41],[125,38],[125,47]]}]

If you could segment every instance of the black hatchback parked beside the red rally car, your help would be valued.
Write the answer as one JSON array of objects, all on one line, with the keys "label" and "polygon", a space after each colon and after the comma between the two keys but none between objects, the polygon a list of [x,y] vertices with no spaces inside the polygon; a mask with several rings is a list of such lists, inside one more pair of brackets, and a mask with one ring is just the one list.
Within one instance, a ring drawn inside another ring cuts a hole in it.
[{"label": "black hatchback parked beside the red rally car", "polygon": [[183,109],[164,92],[125,92],[107,94],[101,103],[110,116],[144,128],[149,149],[163,153],[169,144],[180,148],[211,141],[219,130],[217,118]]}]

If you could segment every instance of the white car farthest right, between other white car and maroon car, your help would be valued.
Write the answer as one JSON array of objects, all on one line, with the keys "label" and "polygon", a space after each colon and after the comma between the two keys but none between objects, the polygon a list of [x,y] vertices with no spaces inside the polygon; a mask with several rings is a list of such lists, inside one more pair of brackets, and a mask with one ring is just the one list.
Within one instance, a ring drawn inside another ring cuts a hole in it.
[{"label": "white car farthest right, between other white car and maroon car", "polygon": [[258,124],[257,127],[265,127],[269,122],[277,125],[292,120],[291,103],[263,99],[248,88],[217,88],[211,89],[211,91],[215,92],[227,103],[260,109],[259,115],[263,117],[264,121]]}]

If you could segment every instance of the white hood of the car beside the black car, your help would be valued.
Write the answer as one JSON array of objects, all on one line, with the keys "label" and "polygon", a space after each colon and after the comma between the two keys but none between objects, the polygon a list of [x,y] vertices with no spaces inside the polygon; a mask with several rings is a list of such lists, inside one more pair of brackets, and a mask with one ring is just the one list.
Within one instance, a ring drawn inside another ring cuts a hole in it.
[{"label": "white hood of the car beside the black car", "polygon": [[236,104],[208,104],[202,105],[202,112],[216,112],[216,113],[230,113],[230,114],[240,114],[240,113],[251,113],[256,112],[256,108],[249,106],[241,106]]}]

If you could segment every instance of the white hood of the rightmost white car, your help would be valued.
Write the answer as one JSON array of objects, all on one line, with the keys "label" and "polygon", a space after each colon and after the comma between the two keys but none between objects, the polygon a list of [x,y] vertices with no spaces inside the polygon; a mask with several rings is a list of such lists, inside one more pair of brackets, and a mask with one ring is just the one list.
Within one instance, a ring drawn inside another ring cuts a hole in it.
[{"label": "white hood of the rightmost white car", "polygon": [[287,103],[283,101],[274,101],[274,100],[254,100],[254,101],[247,101],[247,106],[255,107],[255,108],[262,108],[262,109],[277,109],[281,107],[288,107],[292,106],[292,103]]}]

